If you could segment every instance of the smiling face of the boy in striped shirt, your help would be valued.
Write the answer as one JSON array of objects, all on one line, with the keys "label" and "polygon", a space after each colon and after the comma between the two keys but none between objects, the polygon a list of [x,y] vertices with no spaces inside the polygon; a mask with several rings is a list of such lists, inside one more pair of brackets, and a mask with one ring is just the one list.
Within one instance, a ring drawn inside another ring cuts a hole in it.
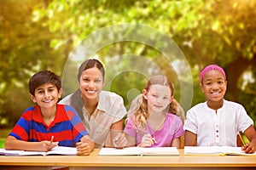
[{"label": "smiling face of the boy in striped shirt", "polygon": [[52,83],[45,83],[35,90],[35,95],[30,94],[30,97],[34,103],[38,103],[40,107],[50,108],[55,107],[58,99],[61,98],[62,90],[58,92],[58,89]]}]

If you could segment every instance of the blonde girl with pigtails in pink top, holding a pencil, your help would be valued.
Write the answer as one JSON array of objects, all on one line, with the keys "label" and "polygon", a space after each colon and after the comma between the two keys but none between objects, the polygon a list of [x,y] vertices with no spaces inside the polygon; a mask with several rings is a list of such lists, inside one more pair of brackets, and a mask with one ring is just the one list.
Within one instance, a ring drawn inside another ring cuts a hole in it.
[{"label": "blonde girl with pigtails in pink top, holding a pencil", "polygon": [[[126,146],[181,147],[183,122],[176,116],[178,105],[173,94],[172,82],[167,77],[149,78],[143,89],[143,103],[125,125]],[[123,139],[121,135],[118,138]],[[117,140],[116,144],[120,146],[121,142]]]}]

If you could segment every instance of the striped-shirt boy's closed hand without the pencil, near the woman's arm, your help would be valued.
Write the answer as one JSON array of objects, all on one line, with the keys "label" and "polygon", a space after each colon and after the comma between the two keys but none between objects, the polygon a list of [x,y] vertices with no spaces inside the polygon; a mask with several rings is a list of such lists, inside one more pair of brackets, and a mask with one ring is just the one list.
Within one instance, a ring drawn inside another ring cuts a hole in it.
[{"label": "striped-shirt boy's closed hand without the pencil, near the woman's arm", "polygon": [[94,149],[94,141],[90,139],[89,135],[85,135],[77,143],[78,156],[89,156],[90,152]]}]

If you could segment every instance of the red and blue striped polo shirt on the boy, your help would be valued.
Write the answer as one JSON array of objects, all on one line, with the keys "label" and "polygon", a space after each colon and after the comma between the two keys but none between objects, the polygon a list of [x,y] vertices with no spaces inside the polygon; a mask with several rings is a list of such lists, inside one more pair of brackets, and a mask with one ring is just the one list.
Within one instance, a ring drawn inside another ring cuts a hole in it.
[{"label": "red and blue striped polo shirt on the boy", "polygon": [[60,146],[75,147],[79,140],[88,134],[78,113],[70,105],[57,105],[55,120],[46,125],[40,110],[36,105],[24,111],[19,121],[15,124],[10,136],[23,141],[40,142],[50,140]]}]

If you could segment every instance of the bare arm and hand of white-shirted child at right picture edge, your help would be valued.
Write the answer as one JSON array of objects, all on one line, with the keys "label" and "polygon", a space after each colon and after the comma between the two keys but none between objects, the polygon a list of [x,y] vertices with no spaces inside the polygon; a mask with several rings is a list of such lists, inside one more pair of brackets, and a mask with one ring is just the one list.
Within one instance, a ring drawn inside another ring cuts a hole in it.
[{"label": "bare arm and hand of white-shirted child at right picture edge", "polygon": [[256,150],[256,132],[253,125],[248,127],[244,131],[244,134],[247,136],[247,139],[250,140],[250,143],[242,146],[241,150],[244,150],[246,153],[254,153]]}]

